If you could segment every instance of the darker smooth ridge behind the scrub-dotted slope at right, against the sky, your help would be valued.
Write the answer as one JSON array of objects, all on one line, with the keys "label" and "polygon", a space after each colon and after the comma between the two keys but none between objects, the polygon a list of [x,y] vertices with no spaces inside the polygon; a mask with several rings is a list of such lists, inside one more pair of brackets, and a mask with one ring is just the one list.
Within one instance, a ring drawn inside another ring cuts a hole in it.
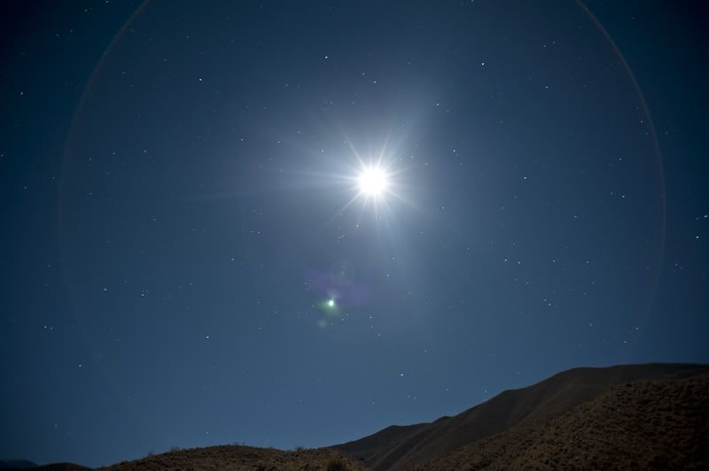
[{"label": "darker smooth ridge behind the scrub-dotted slope at right, against the sky", "polygon": [[709,374],[709,366],[649,364],[574,368],[519,390],[506,390],[454,417],[408,427],[388,427],[335,448],[375,470],[401,470],[502,433],[522,421],[545,423],[594,399],[612,386],[637,381],[680,380]]}]

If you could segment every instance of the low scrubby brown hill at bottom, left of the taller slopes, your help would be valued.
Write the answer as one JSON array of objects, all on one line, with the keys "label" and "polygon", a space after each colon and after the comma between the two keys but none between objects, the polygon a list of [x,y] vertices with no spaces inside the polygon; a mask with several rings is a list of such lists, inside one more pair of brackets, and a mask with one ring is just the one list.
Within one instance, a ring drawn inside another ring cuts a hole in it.
[{"label": "low scrubby brown hill at bottom, left of the taller slopes", "polygon": [[[338,466],[340,465],[340,467]],[[361,471],[367,469],[351,457],[331,449],[308,449],[284,452],[272,448],[223,445],[206,448],[192,448],[176,452],[161,453],[135,461],[123,461],[111,467],[100,469],[110,471],[166,471],[218,469],[249,471]]]}]

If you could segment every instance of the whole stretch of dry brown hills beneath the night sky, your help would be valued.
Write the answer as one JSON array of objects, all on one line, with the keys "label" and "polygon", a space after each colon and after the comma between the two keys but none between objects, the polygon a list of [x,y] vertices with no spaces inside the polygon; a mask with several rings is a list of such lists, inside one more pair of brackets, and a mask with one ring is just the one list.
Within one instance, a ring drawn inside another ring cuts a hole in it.
[{"label": "whole stretch of dry brown hills beneath the night sky", "polygon": [[709,366],[574,368],[456,416],[391,426],[347,444],[296,451],[211,446],[101,469],[709,469]]}]

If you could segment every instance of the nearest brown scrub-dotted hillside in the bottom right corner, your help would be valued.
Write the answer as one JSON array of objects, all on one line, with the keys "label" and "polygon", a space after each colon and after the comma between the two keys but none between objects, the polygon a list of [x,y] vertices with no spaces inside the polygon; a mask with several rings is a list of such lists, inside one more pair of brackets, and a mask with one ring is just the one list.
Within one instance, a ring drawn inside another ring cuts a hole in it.
[{"label": "nearest brown scrub-dotted hillside in the bottom right corner", "polygon": [[614,386],[415,469],[709,469],[709,375]]}]

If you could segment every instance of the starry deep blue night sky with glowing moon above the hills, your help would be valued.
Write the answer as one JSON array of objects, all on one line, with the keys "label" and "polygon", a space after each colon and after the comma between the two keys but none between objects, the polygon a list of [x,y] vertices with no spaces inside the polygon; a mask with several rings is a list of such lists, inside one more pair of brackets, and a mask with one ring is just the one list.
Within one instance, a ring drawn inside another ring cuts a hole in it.
[{"label": "starry deep blue night sky with glowing moon above the hills", "polygon": [[709,362],[700,4],[3,2],[0,459]]}]

